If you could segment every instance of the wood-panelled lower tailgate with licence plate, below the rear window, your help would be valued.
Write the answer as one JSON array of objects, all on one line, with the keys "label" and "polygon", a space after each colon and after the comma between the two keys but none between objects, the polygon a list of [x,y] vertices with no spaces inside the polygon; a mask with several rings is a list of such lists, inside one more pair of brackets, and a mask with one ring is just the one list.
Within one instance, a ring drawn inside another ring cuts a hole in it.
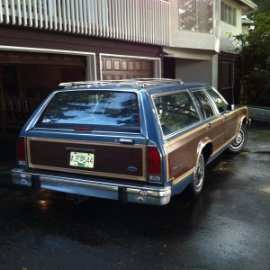
[{"label": "wood-panelled lower tailgate with licence plate, below the rear window", "polygon": [[[61,135],[53,130],[28,131],[28,166],[58,172],[146,181],[146,143],[140,134]],[[43,134],[42,134],[43,133]],[[48,134],[50,134],[48,136]],[[61,137],[64,137],[61,138]],[[79,137],[79,138],[78,138]]]}]

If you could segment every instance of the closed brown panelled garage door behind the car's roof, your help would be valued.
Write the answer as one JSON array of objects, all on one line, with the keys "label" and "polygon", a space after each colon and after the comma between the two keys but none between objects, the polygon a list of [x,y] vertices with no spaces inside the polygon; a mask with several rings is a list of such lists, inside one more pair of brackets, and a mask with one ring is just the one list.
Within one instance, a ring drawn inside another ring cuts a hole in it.
[{"label": "closed brown panelled garage door behind the car's roof", "polygon": [[154,77],[154,61],[147,59],[102,58],[103,80]]}]

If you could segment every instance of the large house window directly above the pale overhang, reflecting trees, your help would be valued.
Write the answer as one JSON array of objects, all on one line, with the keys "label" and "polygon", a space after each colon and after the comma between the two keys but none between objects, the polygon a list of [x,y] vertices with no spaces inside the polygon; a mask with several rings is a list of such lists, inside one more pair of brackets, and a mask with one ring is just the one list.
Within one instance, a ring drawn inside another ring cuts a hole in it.
[{"label": "large house window directly above the pale overhang, reflecting trees", "polygon": [[212,33],[212,0],[178,0],[179,29]]}]

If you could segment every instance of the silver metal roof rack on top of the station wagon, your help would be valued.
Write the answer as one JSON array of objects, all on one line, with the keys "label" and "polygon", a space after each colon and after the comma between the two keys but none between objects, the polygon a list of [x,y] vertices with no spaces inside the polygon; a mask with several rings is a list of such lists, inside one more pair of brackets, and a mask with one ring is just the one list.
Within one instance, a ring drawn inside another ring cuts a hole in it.
[{"label": "silver metal roof rack on top of the station wagon", "polygon": [[80,81],[80,82],[68,82],[59,84],[60,87],[79,87],[79,86],[103,86],[103,85],[129,85],[129,86],[141,86],[147,88],[150,85],[166,85],[177,84],[183,85],[184,82],[181,79],[166,79],[166,78],[133,78],[123,80],[101,80],[101,81]]}]

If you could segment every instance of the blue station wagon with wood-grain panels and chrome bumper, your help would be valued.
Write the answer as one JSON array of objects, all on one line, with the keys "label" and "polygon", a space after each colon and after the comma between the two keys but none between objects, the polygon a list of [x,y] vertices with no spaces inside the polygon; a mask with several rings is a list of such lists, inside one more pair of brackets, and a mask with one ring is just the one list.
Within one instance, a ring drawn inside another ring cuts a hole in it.
[{"label": "blue station wagon with wood-grain panels and chrome bumper", "polygon": [[74,82],[49,94],[23,127],[14,184],[164,205],[202,191],[205,166],[247,141],[247,107],[181,80]]}]

